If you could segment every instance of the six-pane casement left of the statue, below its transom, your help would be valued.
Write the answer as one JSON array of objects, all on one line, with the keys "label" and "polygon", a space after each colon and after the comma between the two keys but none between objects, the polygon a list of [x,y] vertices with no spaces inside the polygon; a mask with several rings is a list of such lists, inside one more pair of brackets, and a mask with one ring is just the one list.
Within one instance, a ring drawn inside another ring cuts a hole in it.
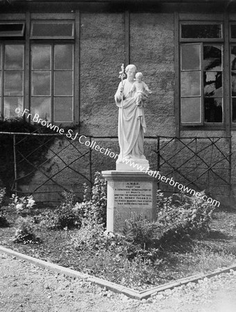
[{"label": "six-pane casement left of the statue, below its transom", "polygon": [[31,112],[55,122],[73,121],[73,44],[31,45]]}]

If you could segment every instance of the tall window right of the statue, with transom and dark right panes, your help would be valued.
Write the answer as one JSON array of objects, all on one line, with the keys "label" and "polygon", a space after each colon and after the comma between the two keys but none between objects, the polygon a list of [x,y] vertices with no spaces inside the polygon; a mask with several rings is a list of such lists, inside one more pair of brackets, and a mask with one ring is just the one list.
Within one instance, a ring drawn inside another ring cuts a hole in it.
[{"label": "tall window right of the statue, with transom and dark right panes", "polygon": [[221,24],[180,25],[180,120],[182,125],[224,122]]}]

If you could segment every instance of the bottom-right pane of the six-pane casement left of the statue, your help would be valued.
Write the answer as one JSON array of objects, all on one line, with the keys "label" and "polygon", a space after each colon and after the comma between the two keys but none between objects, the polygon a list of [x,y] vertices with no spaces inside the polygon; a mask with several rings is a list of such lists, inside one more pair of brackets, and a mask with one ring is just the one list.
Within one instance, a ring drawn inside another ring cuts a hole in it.
[{"label": "bottom-right pane of the six-pane casement left of the statue", "polygon": [[72,98],[54,98],[54,121],[72,122]]}]

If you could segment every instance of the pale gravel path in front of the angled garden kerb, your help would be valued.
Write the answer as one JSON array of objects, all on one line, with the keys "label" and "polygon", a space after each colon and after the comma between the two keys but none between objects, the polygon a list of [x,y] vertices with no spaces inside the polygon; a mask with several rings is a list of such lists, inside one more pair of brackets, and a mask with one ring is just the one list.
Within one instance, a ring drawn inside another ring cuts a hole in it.
[{"label": "pale gravel path in front of the angled garden kerb", "polygon": [[235,312],[236,272],[189,283],[140,302],[0,252],[0,311]]}]

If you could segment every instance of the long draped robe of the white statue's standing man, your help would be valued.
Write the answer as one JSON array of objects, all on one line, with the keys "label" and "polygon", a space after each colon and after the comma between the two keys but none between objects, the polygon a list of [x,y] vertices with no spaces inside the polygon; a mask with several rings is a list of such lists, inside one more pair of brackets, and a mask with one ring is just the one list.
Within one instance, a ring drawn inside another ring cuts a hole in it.
[{"label": "long draped robe of the white statue's standing man", "polygon": [[[121,161],[122,156],[132,159],[146,159],[144,156],[144,133],[146,132],[144,108],[136,105],[135,100],[137,94],[134,94],[134,92],[128,94],[133,83],[124,80],[123,85],[123,129],[121,129],[121,83],[119,83],[115,94],[115,102],[119,107],[118,138],[120,154],[118,161]],[[123,153],[121,151],[121,136],[123,136]]]}]

